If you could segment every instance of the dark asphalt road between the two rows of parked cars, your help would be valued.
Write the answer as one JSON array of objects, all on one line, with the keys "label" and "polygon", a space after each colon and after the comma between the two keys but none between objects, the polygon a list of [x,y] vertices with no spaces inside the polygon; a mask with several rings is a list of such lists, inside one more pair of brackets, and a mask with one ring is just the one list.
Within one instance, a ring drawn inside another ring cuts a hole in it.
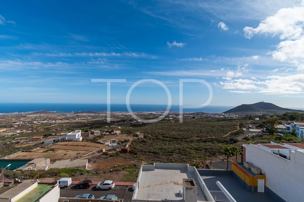
[{"label": "dark asphalt road between the two rows of parked cars", "polygon": [[60,197],[72,197],[81,194],[94,194],[95,198],[100,198],[107,194],[114,194],[118,198],[123,199],[124,202],[131,202],[133,196],[132,186],[119,186],[116,185],[112,190],[97,190],[95,185],[92,185],[89,189],[76,189],[72,184],[67,188],[60,188]]}]

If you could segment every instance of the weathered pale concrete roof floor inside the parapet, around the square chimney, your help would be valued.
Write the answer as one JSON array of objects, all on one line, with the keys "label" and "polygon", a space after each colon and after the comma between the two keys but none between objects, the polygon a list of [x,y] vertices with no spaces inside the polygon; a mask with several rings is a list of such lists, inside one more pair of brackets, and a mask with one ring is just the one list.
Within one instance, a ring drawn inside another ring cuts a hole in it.
[{"label": "weathered pale concrete roof floor inside the parapet, around the square chimney", "polygon": [[[137,199],[147,200],[181,200],[178,194],[182,190],[183,178],[193,178],[196,176],[187,169],[157,169],[153,171],[142,171],[139,188],[137,190]],[[198,201],[206,201],[201,189],[198,186]]]}]

